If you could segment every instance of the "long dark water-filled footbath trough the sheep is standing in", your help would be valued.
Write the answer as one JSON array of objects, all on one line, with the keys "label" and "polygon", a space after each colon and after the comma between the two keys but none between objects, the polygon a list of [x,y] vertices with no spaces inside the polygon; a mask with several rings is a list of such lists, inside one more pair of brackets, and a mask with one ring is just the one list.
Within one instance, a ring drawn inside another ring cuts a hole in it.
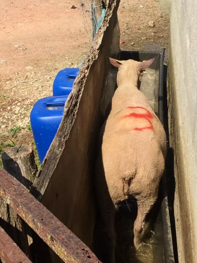
[{"label": "long dark water-filled footbath trough the sheep is standing in", "polygon": [[[153,110],[157,114],[161,123],[164,124],[166,134],[168,135],[166,128],[166,119],[164,118],[164,95],[163,95],[163,61],[164,61],[165,49],[161,52],[132,52],[122,51],[120,60],[133,59],[138,61],[148,60],[155,58],[152,65],[145,70],[140,86],[140,90],[147,96]],[[165,123],[164,123],[165,119]],[[166,170],[168,156],[166,157]],[[129,200],[127,203],[121,204],[120,210],[116,214],[116,262],[136,262],[136,263],[174,263],[174,251],[172,245],[172,233],[171,233],[171,221],[174,220],[174,215],[170,219],[169,204],[167,199],[166,190],[166,174],[169,176],[169,172],[165,170],[165,173],[160,182],[160,190],[158,199],[153,209],[147,216],[147,223],[145,224],[145,231],[142,232],[143,238],[141,248],[136,251],[133,242],[133,223],[137,215],[137,205],[134,200]],[[167,178],[169,180],[169,178]],[[99,220],[99,219],[98,219]],[[98,226],[96,224],[96,226]],[[100,260],[105,257],[104,249],[98,248],[100,245],[99,240],[104,240],[103,233],[96,227],[95,236],[95,250]],[[174,241],[174,240],[173,240]],[[175,241],[176,243],[176,241]],[[104,246],[104,244],[103,244]]]}]

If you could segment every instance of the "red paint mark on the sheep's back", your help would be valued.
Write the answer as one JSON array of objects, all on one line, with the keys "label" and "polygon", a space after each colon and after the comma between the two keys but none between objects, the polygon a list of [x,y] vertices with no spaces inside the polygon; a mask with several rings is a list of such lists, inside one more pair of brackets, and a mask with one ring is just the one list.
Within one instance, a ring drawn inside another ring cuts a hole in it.
[{"label": "red paint mark on the sheep's back", "polygon": [[150,113],[150,111],[148,111],[147,109],[143,108],[143,107],[127,107],[129,109],[142,109],[142,110],[145,110],[146,112],[145,113],[136,113],[136,112],[132,112],[130,114],[127,114],[127,115],[124,115],[121,117],[122,118],[139,118],[139,119],[145,119],[148,121],[149,123],[149,126],[145,126],[145,127],[142,127],[142,128],[134,128],[134,130],[138,130],[138,131],[142,131],[142,130],[145,130],[145,129],[148,129],[148,130],[153,130],[153,125],[152,125],[152,122],[150,119],[153,119],[153,115]]}]

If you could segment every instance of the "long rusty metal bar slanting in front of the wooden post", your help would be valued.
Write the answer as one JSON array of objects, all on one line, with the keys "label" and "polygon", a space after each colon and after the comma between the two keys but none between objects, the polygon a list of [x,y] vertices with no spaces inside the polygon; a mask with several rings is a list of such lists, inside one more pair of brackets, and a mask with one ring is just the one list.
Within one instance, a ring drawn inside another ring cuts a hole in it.
[{"label": "long rusty metal bar slanting in front of the wooden post", "polygon": [[0,169],[0,196],[64,262],[101,263],[89,247],[4,169]]}]

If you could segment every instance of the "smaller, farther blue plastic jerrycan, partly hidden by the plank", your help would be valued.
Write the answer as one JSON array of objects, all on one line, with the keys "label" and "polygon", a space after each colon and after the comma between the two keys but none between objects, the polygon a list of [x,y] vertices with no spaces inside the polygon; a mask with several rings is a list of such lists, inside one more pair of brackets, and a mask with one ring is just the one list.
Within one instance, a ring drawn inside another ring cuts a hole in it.
[{"label": "smaller, farther blue plastic jerrycan, partly hidden by the plank", "polygon": [[69,95],[79,68],[65,68],[60,70],[53,82],[53,96]]}]

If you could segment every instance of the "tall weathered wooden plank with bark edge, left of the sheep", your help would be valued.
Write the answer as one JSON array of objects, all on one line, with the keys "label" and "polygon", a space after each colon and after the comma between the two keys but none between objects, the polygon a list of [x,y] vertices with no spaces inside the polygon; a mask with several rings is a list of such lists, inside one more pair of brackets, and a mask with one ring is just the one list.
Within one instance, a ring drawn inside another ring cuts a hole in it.
[{"label": "tall weathered wooden plank with bark edge, left of the sheep", "polygon": [[91,247],[94,230],[94,163],[99,129],[114,93],[119,58],[119,0],[110,1],[103,24],[81,66],[63,120],[31,193]]}]

